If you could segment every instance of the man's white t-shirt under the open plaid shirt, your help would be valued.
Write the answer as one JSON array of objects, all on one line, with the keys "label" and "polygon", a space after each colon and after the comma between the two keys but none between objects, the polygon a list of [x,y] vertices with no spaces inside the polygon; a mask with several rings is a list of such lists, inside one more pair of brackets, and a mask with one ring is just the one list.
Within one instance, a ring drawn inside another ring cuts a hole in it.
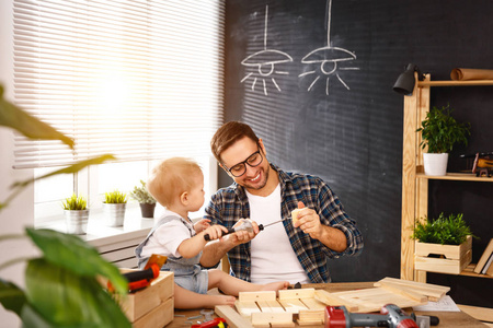
[{"label": "man's white t-shirt under the open plaid shirt", "polygon": [[[280,220],[280,186],[267,197],[246,191],[250,202],[250,219],[257,224],[268,224]],[[270,225],[252,239],[252,267],[250,279],[253,283],[270,283],[279,280],[289,283],[309,283],[283,222]]]}]

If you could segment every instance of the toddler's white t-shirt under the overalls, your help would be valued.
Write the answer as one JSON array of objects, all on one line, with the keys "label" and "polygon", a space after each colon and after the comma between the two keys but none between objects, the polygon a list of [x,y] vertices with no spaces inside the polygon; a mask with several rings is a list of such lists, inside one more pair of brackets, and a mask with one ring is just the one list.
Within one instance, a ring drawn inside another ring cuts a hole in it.
[{"label": "toddler's white t-shirt under the overalls", "polygon": [[[194,232],[194,227],[191,222],[179,219],[181,218],[179,214],[169,210],[164,212],[162,218],[168,215],[174,215],[176,220],[167,222],[154,231],[142,248],[142,257],[149,257],[152,254],[164,255],[167,257],[181,257],[177,247],[183,241],[191,237],[188,229]],[[183,221],[187,225],[183,224]]]}]

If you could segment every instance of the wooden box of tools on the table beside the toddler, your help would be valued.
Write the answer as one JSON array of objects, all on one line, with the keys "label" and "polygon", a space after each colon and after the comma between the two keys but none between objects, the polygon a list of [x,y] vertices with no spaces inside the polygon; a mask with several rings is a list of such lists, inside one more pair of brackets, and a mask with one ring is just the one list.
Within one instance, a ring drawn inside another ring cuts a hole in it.
[{"label": "wooden box of tools on the table beside the toddler", "polygon": [[[122,269],[122,272],[133,271]],[[135,328],[162,328],[174,317],[173,272],[160,271],[150,285],[119,300],[122,311]]]}]

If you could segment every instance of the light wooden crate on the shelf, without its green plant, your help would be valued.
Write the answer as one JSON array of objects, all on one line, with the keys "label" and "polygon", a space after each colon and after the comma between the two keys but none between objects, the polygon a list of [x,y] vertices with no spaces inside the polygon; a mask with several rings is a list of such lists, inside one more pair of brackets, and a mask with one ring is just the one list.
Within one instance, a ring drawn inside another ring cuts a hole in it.
[{"label": "light wooden crate on the shelf, without its green plant", "polygon": [[[439,255],[440,258],[429,257]],[[472,260],[472,237],[460,245],[415,244],[414,268],[416,270],[459,274]]]}]

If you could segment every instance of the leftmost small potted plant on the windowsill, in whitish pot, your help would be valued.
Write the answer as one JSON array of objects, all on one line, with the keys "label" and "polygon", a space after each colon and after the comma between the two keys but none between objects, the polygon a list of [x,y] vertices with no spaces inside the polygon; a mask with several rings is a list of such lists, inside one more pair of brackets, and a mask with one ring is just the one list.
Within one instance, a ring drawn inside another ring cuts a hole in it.
[{"label": "leftmost small potted plant on the windowsill, in whitish pot", "polygon": [[67,233],[84,235],[88,231],[89,210],[88,202],[82,196],[73,194],[61,201],[64,208]]}]

